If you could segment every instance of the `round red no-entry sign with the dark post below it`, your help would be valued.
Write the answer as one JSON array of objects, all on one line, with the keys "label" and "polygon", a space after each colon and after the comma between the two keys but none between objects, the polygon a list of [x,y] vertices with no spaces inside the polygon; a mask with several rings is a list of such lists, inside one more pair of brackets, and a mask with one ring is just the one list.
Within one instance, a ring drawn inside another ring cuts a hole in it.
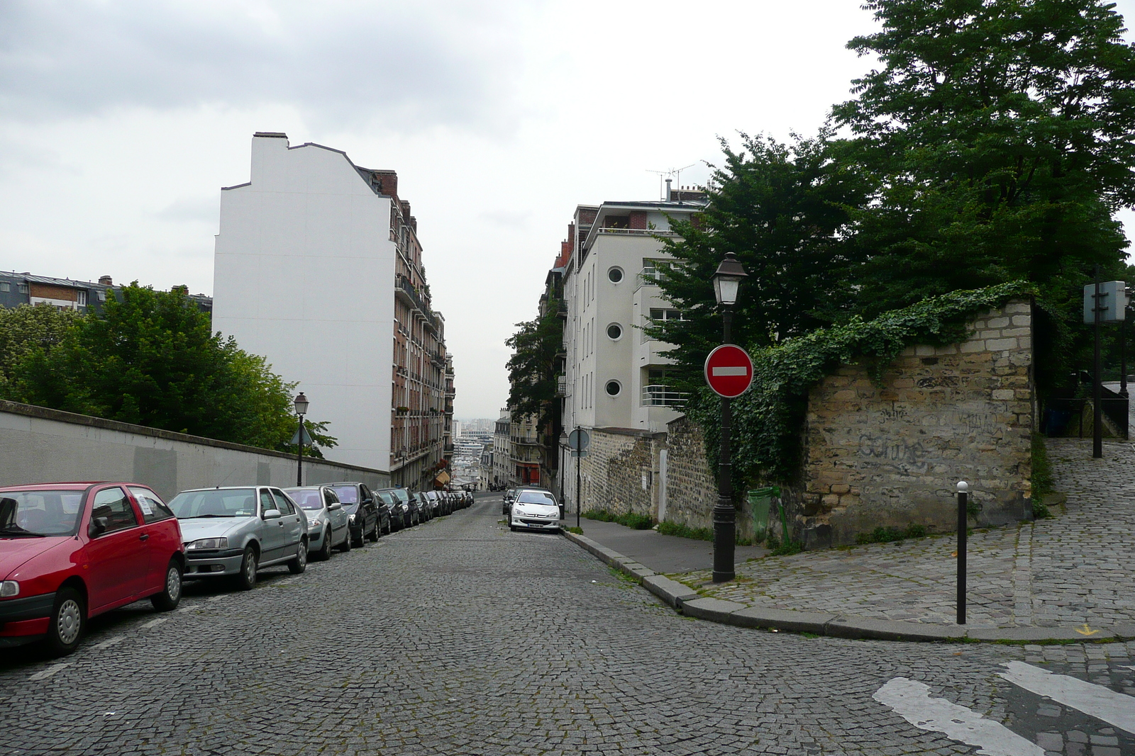
[{"label": "round red no-entry sign with the dark post below it", "polygon": [[737,543],[737,509],[733,507],[733,477],[730,460],[732,400],[753,385],[753,358],[737,345],[723,343],[709,352],[705,364],[706,383],[721,397],[721,461],[717,474],[717,506],[713,508],[713,581],[735,577],[733,553]]}]

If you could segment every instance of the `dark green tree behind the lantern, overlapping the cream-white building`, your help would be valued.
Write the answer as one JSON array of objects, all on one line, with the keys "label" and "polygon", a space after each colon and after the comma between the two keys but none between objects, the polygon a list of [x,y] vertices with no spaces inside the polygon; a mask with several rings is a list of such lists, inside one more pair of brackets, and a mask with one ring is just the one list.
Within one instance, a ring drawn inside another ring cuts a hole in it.
[{"label": "dark green tree behind the lantern, overlapping the cream-white building", "polygon": [[849,308],[849,277],[863,254],[848,238],[848,209],[866,201],[871,184],[833,159],[830,137],[783,144],[741,134],[737,151],[722,139],[724,164],[709,180],[705,212],[672,222],[676,238],[662,237],[676,263],[658,286],[682,318],[647,332],[674,345],[687,383],[700,380],[706,354],[721,343],[713,274],[726,252],[749,273],[734,306],[737,343],[768,346]]}]

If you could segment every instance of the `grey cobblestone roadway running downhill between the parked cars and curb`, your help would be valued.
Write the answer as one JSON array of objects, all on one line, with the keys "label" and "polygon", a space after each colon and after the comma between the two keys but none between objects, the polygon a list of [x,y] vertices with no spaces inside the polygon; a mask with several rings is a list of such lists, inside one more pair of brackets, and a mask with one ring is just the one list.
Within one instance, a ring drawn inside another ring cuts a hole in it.
[{"label": "grey cobblestone roadway running downhill between the parked cars and curb", "polygon": [[112,612],[62,660],[7,654],[0,754],[976,753],[873,698],[899,677],[1048,753],[1135,753],[1128,733],[998,674],[1028,662],[1135,693],[1135,644],[703,622],[499,517],[498,499],[480,499],[304,575],[266,570],[251,593],[197,586],[169,614]]}]

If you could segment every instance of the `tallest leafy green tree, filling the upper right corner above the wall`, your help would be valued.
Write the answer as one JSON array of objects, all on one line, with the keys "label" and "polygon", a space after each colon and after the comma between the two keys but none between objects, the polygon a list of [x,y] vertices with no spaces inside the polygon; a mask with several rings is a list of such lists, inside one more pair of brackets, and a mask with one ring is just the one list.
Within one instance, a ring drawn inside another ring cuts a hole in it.
[{"label": "tallest leafy green tree, filling the upper right corner above the wall", "polygon": [[868,0],[848,46],[883,67],[833,109],[843,160],[877,177],[855,213],[859,312],[955,289],[1040,284],[1070,315],[1119,272],[1135,202],[1135,51],[1100,0]]}]

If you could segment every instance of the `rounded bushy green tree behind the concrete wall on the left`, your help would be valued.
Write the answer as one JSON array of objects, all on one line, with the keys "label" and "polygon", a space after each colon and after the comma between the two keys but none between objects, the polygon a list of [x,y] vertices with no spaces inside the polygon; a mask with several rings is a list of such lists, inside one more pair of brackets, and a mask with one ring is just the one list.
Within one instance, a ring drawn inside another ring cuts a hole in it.
[{"label": "rounded bushy green tree behind the concrete wall on the left", "polygon": [[[292,390],[261,357],[211,331],[180,290],[137,282],[61,340],[27,351],[12,369],[17,401],[179,433],[285,449],[295,431]],[[323,447],[335,440],[318,433]]]}]

